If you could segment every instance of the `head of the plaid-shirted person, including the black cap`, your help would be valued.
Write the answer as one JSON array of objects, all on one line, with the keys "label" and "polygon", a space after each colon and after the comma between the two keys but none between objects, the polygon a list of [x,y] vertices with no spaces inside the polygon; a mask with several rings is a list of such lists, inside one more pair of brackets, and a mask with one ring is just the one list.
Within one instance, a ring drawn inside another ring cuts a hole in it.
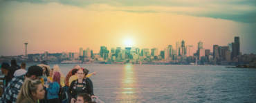
[{"label": "head of the plaid-shirted person, including the black cap", "polygon": [[43,76],[43,69],[37,65],[33,65],[28,67],[28,72],[26,73],[26,78],[30,78],[31,80],[39,80],[40,78],[47,78]]}]

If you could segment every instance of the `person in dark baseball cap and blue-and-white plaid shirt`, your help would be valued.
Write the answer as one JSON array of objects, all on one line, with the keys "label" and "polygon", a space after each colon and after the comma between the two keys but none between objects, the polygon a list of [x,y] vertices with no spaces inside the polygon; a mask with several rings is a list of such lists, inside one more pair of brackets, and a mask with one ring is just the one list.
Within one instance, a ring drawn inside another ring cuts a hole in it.
[{"label": "person in dark baseball cap and blue-and-white plaid shirt", "polygon": [[29,67],[28,72],[25,75],[12,78],[12,80],[9,82],[8,86],[3,92],[1,102],[15,103],[18,98],[18,94],[20,92],[21,86],[24,84],[24,80],[26,78],[29,78],[30,80],[39,80],[40,78],[47,78],[47,77],[43,76],[42,67],[39,67],[36,65]]}]

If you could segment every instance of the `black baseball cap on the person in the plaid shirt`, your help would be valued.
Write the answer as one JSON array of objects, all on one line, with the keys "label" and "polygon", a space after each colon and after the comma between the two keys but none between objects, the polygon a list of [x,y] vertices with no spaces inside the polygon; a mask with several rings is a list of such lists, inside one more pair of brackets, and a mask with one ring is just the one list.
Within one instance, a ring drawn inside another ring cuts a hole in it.
[{"label": "black baseball cap on the person in the plaid shirt", "polygon": [[37,65],[33,65],[31,67],[28,67],[28,74],[38,76],[39,78],[47,78],[46,76],[43,76],[43,69],[42,67],[39,67]]}]

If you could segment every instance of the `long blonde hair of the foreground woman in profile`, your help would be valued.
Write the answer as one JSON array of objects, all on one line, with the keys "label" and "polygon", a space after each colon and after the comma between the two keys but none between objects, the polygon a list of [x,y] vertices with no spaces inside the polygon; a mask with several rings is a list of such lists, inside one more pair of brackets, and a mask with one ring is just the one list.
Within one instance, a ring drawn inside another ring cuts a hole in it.
[{"label": "long blonde hair of the foreground woman in profile", "polygon": [[19,92],[17,103],[22,102],[37,102],[34,100],[32,93],[37,93],[38,84],[42,84],[40,80],[30,80],[29,78],[25,80],[24,84],[21,86],[21,91]]}]

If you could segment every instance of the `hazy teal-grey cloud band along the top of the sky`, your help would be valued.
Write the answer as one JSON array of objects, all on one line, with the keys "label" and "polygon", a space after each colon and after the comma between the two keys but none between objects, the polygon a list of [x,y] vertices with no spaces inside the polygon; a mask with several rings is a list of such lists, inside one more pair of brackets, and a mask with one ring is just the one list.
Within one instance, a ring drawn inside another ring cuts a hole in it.
[{"label": "hazy teal-grey cloud band along the top of the sky", "polygon": [[60,3],[96,11],[134,13],[168,12],[190,16],[205,16],[244,23],[256,23],[255,0],[13,0],[30,3]]}]

